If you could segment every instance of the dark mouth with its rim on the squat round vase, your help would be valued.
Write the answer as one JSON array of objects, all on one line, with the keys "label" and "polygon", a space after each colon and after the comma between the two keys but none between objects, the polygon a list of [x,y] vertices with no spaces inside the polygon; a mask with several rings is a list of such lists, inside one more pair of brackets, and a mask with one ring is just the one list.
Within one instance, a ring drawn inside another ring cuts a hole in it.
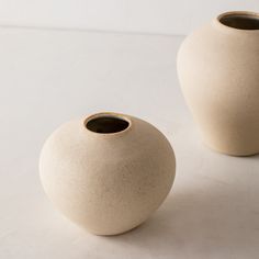
[{"label": "dark mouth with its rim on the squat round vase", "polygon": [[131,127],[131,120],[117,113],[97,113],[85,120],[88,131],[98,134],[117,134]]}]

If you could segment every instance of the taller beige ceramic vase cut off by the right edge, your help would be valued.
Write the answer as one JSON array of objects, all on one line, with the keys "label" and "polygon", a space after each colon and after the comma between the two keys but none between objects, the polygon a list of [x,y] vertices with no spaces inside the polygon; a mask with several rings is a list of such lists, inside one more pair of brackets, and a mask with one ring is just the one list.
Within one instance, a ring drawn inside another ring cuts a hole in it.
[{"label": "taller beige ceramic vase cut off by the right edge", "polygon": [[259,14],[224,13],[193,32],[180,47],[178,74],[210,147],[259,153]]}]

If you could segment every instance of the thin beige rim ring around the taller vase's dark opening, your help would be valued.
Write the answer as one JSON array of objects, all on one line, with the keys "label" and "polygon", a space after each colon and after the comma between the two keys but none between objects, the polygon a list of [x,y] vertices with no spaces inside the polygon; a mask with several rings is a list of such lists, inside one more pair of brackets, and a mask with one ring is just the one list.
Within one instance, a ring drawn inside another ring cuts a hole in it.
[{"label": "thin beige rim ring around the taller vase's dark opening", "polygon": [[228,11],[228,12],[223,12],[221,14],[218,14],[213,23],[223,30],[229,31],[229,32],[238,32],[238,33],[258,33],[259,29],[252,29],[252,30],[248,30],[248,29],[238,29],[238,27],[232,27],[228,25],[225,25],[224,23],[221,22],[221,19],[224,16],[230,16],[230,15],[244,15],[244,16],[252,16],[252,18],[257,18],[259,19],[259,12],[252,12],[252,11]]}]

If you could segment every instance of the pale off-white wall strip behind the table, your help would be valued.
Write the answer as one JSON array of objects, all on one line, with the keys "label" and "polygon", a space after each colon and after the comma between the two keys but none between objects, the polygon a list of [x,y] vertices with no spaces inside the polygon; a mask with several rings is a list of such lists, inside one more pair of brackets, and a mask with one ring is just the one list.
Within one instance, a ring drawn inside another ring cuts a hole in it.
[{"label": "pale off-white wall strip behind the table", "polygon": [[228,10],[259,0],[0,0],[0,25],[187,34]]}]

